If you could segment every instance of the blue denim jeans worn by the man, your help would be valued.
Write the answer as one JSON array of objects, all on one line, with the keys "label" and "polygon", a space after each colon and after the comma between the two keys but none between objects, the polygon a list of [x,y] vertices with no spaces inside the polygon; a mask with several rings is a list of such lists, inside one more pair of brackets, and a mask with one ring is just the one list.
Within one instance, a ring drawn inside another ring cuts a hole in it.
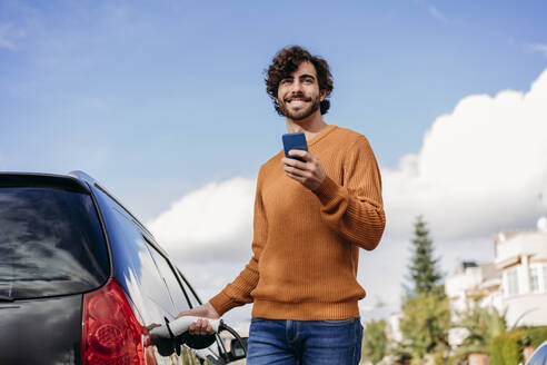
[{"label": "blue denim jeans worn by the man", "polygon": [[359,318],[285,320],[252,318],[248,365],[357,365],[361,356]]}]

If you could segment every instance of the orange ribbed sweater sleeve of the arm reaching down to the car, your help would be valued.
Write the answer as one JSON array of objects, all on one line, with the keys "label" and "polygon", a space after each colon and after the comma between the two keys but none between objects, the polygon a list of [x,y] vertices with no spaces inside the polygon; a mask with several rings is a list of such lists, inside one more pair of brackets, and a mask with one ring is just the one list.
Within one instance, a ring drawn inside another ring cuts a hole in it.
[{"label": "orange ribbed sweater sleeve of the arm reaching down to the car", "polygon": [[232,283],[228,284],[222,292],[209,300],[220,316],[233,307],[252,303],[250,293],[258,284],[260,276],[258,272],[258,262],[268,236],[268,221],[266,220],[261,196],[262,175],[262,169],[260,169],[255,196],[252,257],[239,276]]}]

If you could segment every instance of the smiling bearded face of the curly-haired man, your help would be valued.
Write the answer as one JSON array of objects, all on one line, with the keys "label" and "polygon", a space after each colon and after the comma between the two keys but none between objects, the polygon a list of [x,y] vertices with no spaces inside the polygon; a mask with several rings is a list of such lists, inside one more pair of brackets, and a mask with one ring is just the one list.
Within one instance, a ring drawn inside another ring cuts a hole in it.
[{"label": "smiling bearded face of the curly-haired man", "polygon": [[319,109],[325,93],[319,90],[314,65],[301,62],[295,72],[279,82],[277,103],[285,117],[298,121]]}]

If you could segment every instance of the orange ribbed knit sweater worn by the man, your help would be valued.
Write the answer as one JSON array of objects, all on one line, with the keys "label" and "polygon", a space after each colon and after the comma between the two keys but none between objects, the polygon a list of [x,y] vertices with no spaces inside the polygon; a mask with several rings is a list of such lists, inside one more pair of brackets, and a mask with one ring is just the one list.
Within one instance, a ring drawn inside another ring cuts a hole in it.
[{"label": "orange ribbed knit sweater worn by the man", "polygon": [[311,191],[285,176],[280,151],[258,174],[252,253],[209,302],[219,315],[253,303],[252,316],[322,320],[359,316],[359,247],[374,249],[386,223],[378,165],[367,139],[328,126],[308,141],[327,178]]}]

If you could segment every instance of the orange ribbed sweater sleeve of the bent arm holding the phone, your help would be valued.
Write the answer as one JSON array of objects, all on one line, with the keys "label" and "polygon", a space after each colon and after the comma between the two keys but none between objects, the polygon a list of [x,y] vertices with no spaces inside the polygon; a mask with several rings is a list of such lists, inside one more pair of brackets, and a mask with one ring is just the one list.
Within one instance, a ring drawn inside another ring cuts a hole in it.
[{"label": "orange ribbed sweater sleeve of the bent arm holding the phone", "polygon": [[378,164],[364,136],[349,148],[342,168],[342,186],[327,176],[314,191],[321,203],[321,217],[342,237],[371,250],[380,241],[386,216]]}]

